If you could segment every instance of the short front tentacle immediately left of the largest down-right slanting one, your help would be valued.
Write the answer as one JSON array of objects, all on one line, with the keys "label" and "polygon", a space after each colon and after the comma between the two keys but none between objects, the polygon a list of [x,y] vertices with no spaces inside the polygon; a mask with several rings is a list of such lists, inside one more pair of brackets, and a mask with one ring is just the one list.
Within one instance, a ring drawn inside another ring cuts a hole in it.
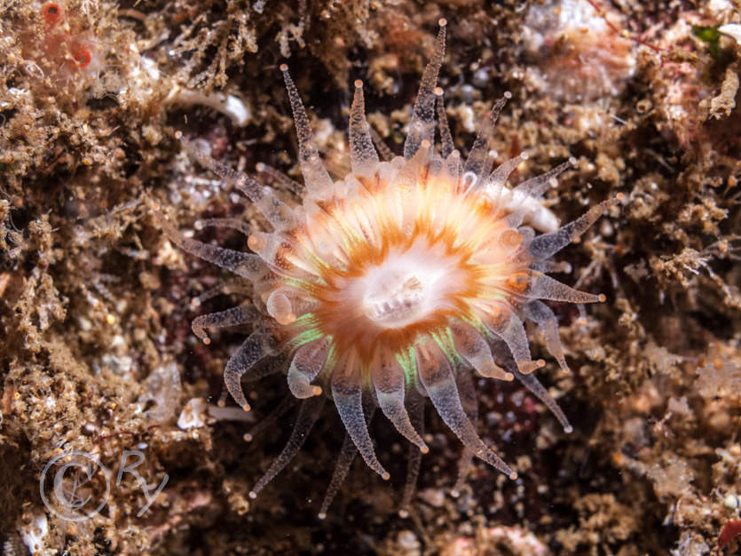
[{"label": "short front tentacle immediately left of the largest down-right slanting one", "polygon": [[404,393],[406,388],[406,377],[404,369],[389,352],[383,352],[381,361],[378,362],[372,372],[375,394],[378,405],[383,414],[388,417],[397,431],[406,440],[416,445],[423,454],[430,449],[422,441],[422,437],[414,430],[409,414],[404,405]]}]

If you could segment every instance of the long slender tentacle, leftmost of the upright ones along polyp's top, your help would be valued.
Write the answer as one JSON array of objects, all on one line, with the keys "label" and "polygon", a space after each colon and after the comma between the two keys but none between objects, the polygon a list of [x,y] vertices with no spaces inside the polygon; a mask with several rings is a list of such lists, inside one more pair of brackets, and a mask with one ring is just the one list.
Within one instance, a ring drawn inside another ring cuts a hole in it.
[{"label": "long slender tentacle, leftmost of the upright ones along polyp's top", "polygon": [[280,71],[283,73],[283,81],[286,83],[288,99],[291,102],[294,123],[296,123],[298,158],[299,163],[301,163],[303,179],[306,182],[306,189],[309,195],[315,199],[328,199],[332,196],[332,179],[321,162],[321,158],[319,158],[319,149],[314,143],[314,134],[311,132],[309,117],[303,108],[303,102],[296,90],[296,85],[291,76],[288,75],[288,66],[281,64]]}]

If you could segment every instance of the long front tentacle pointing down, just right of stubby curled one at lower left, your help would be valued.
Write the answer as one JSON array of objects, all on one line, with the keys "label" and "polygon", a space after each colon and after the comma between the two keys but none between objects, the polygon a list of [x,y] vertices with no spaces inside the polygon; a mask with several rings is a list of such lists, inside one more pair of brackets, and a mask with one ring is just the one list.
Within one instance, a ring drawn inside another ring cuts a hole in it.
[{"label": "long front tentacle pointing down, just right of stubby curled one at lower left", "polygon": [[332,397],[345,429],[358,447],[360,456],[368,467],[387,481],[390,475],[375,457],[373,441],[368,434],[366,417],[363,415],[363,390],[358,375],[359,370],[355,369],[354,365],[343,364],[343,361],[340,361],[332,375]]}]

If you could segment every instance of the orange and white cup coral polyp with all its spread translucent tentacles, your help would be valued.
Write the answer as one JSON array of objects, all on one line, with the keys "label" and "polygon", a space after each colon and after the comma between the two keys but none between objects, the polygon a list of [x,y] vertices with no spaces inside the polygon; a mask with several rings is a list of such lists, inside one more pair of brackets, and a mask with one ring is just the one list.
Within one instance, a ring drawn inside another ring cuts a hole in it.
[{"label": "orange and white cup coral polyp with all its spread translucent tentacles", "polygon": [[[493,169],[489,143],[509,94],[494,103],[468,157],[461,160],[436,86],[444,54],[441,20],[404,155],[390,161],[380,160],[374,147],[362,83],[355,83],[351,172],[336,181],[319,158],[288,68],[281,66],[306,186],[300,206],[280,202],[268,187],[185,141],[201,163],[247,195],[274,228],[250,234],[248,246],[254,253],[243,253],[186,239],[161,218],[169,238],[185,251],[254,284],[253,303],[261,313],[239,306],[193,322],[196,335],[206,341],[206,327],[255,327],[226,365],[225,385],[234,401],[250,409],[242,379],[260,377],[264,369],[256,362],[280,353],[290,361],[289,389],[303,400],[286,449],[252,489],[252,497],[296,454],[326,399],[334,401],[347,437],[322,514],[356,450],[371,469],[389,478],[368,433],[375,408],[419,449],[418,455],[429,451],[414,425],[421,421],[424,397],[469,456],[515,479],[516,473],[481,440],[467,403],[461,402],[472,389],[472,370],[480,377],[519,379],[571,431],[556,401],[531,374],[545,361],[532,359],[524,322],[540,328],[549,352],[568,372],[556,315],[541,300],[593,303],[604,296],[573,290],[549,277],[548,272],[568,266],[551,257],[617,199],[596,204],[566,226],[536,234],[530,226],[537,217],[533,205],[540,207],[537,199],[572,161],[514,189],[507,187],[509,174],[527,158],[521,154]],[[439,151],[433,145],[436,115]]]}]

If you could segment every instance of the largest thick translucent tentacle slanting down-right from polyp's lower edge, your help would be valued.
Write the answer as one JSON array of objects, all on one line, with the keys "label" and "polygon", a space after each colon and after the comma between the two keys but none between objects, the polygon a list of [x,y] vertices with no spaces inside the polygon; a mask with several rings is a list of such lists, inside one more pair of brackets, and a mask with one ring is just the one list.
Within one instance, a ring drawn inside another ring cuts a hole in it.
[{"label": "largest thick translucent tentacle slanting down-right from polyp's lower edge", "polygon": [[474,452],[476,457],[492,465],[501,473],[507,474],[510,479],[516,479],[517,473],[512,471],[501,457],[486,447],[484,441],[478,436],[476,428],[469,421],[469,417],[466,416],[461,406],[458,387],[453,378],[453,370],[445,356],[439,353],[438,348],[432,343],[419,345],[415,351],[417,373],[445,424],[461,439],[464,446]]}]

